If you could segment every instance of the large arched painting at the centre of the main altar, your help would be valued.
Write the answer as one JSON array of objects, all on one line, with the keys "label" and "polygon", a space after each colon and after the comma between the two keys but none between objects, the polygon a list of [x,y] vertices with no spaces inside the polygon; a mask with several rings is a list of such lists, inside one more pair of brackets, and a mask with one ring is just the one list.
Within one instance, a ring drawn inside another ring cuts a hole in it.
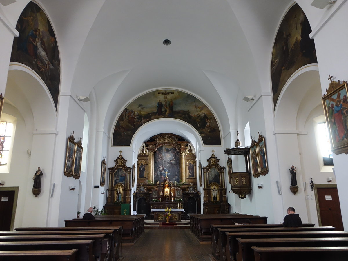
[{"label": "large arched painting at the centre of the main altar", "polygon": [[168,176],[169,180],[179,182],[180,153],[171,145],[163,145],[154,153],[153,182],[160,183]]}]

